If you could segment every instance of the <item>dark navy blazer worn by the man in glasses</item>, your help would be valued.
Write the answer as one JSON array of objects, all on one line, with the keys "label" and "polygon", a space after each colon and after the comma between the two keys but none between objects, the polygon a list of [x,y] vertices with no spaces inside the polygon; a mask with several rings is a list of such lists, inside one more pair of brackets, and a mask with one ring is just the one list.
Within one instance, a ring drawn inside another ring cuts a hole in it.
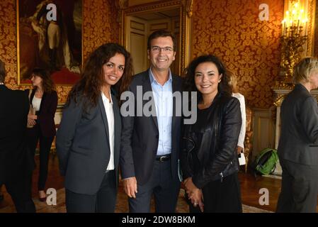
[{"label": "dark navy blazer worn by the man in glasses", "polygon": [[[181,77],[172,75],[173,92],[181,92]],[[142,86],[142,95],[152,92],[149,79],[149,71],[134,76],[129,91],[137,97],[137,86]],[[154,101],[154,97],[151,98]],[[142,101],[142,106],[148,100]],[[123,104],[123,106],[125,103]],[[120,143],[120,169],[123,179],[136,177],[138,184],[145,184],[152,175],[152,169],[157,154],[159,143],[159,130],[156,116],[137,116],[137,102],[135,105],[135,116],[123,116],[123,131]],[[153,104],[154,105],[154,104]],[[122,108],[123,108],[122,106]],[[174,179],[178,177],[178,159],[180,152],[181,116],[176,116],[176,101],[174,99],[174,116],[172,117],[171,131],[171,175]]]}]

